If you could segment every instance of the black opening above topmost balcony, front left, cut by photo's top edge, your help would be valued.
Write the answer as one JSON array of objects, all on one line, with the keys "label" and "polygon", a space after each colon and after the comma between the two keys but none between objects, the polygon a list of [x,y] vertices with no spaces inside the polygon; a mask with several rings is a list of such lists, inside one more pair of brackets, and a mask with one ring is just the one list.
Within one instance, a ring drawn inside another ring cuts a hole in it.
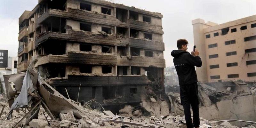
[{"label": "black opening above topmost balcony, front left, cut by photo's top edge", "polygon": [[65,11],[66,10],[66,0],[48,0],[48,8]]}]

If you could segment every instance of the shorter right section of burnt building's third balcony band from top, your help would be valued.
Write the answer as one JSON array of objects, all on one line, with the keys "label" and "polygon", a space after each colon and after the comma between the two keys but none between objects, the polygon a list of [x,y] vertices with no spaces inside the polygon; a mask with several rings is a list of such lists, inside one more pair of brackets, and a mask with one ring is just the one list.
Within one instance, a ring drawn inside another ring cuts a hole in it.
[{"label": "shorter right section of burnt building's third balcony band from top", "polygon": [[118,66],[137,66],[137,67],[156,67],[156,68],[165,68],[165,60],[160,58],[153,57],[125,57],[117,56],[117,65]]}]

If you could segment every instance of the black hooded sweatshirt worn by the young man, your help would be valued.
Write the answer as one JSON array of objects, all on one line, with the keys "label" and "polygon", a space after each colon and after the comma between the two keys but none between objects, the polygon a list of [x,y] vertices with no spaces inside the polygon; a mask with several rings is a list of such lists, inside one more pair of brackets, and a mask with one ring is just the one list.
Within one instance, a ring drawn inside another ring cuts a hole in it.
[{"label": "black hooded sweatshirt worn by the young man", "polygon": [[197,82],[195,66],[202,66],[201,58],[182,50],[173,50],[171,55],[174,57],[173,63],[179,76],[180,86]]}]

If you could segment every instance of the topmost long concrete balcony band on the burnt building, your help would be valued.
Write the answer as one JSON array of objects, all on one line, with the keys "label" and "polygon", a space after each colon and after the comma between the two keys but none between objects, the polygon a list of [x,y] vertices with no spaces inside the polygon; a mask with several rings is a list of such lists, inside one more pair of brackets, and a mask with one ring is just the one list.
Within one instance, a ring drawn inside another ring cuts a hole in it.
[{"label": "topmost long concrete balcony band on the burnt building", "polygon": [[126,28],[133,28],[138,29],[141,31],[153,32],[158,34],[164,34],[162,30],[162,26],[155,25],[152,23],[137,21],[137,20],[128,20],[128,22],[121,22],[116,19],[116,16],[112,15],[104,15],[79,9],[72,9],[68,8],[68,11],[60,11],[55,9],[49,9],[47,12],[42,14],[36,20],[36,28],[45,21],[49,17],[61,17],[67,18],[72,20],[79,20],[89,23],[96,23],[96,24],[104,24],[110,26],[119,26],[119,27],[126,27]]}]

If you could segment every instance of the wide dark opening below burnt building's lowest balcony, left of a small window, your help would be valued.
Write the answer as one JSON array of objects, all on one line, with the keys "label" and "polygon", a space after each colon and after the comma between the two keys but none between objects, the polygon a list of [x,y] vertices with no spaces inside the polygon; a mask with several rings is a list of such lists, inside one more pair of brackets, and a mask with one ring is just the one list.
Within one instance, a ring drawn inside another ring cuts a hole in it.
[{"label": "wide dark opening below burnt building's lowest balcony, left of a small window", "polygon": [[123,97],[124,86],[103,86],[102,96],[105,100]]}]

